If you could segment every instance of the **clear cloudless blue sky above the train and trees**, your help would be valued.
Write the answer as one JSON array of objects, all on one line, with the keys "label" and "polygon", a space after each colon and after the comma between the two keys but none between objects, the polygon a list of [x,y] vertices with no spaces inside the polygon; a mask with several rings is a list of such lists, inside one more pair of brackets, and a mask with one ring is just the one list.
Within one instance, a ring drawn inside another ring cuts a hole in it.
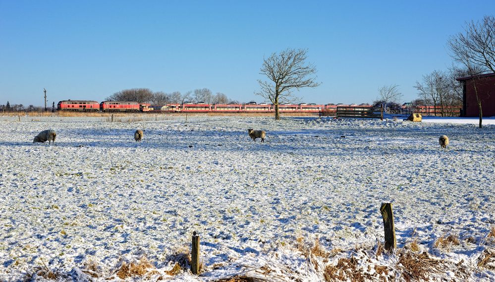
[{"label": "clear cloudless blue sky above the train and trees", "polygon": [[0,104],[103,101],[128,88],[209,88],[258,101],[264,56],[308,49],[307,103],[366,103],[452,62],[449,36],[492,1],[0,0]]}]

